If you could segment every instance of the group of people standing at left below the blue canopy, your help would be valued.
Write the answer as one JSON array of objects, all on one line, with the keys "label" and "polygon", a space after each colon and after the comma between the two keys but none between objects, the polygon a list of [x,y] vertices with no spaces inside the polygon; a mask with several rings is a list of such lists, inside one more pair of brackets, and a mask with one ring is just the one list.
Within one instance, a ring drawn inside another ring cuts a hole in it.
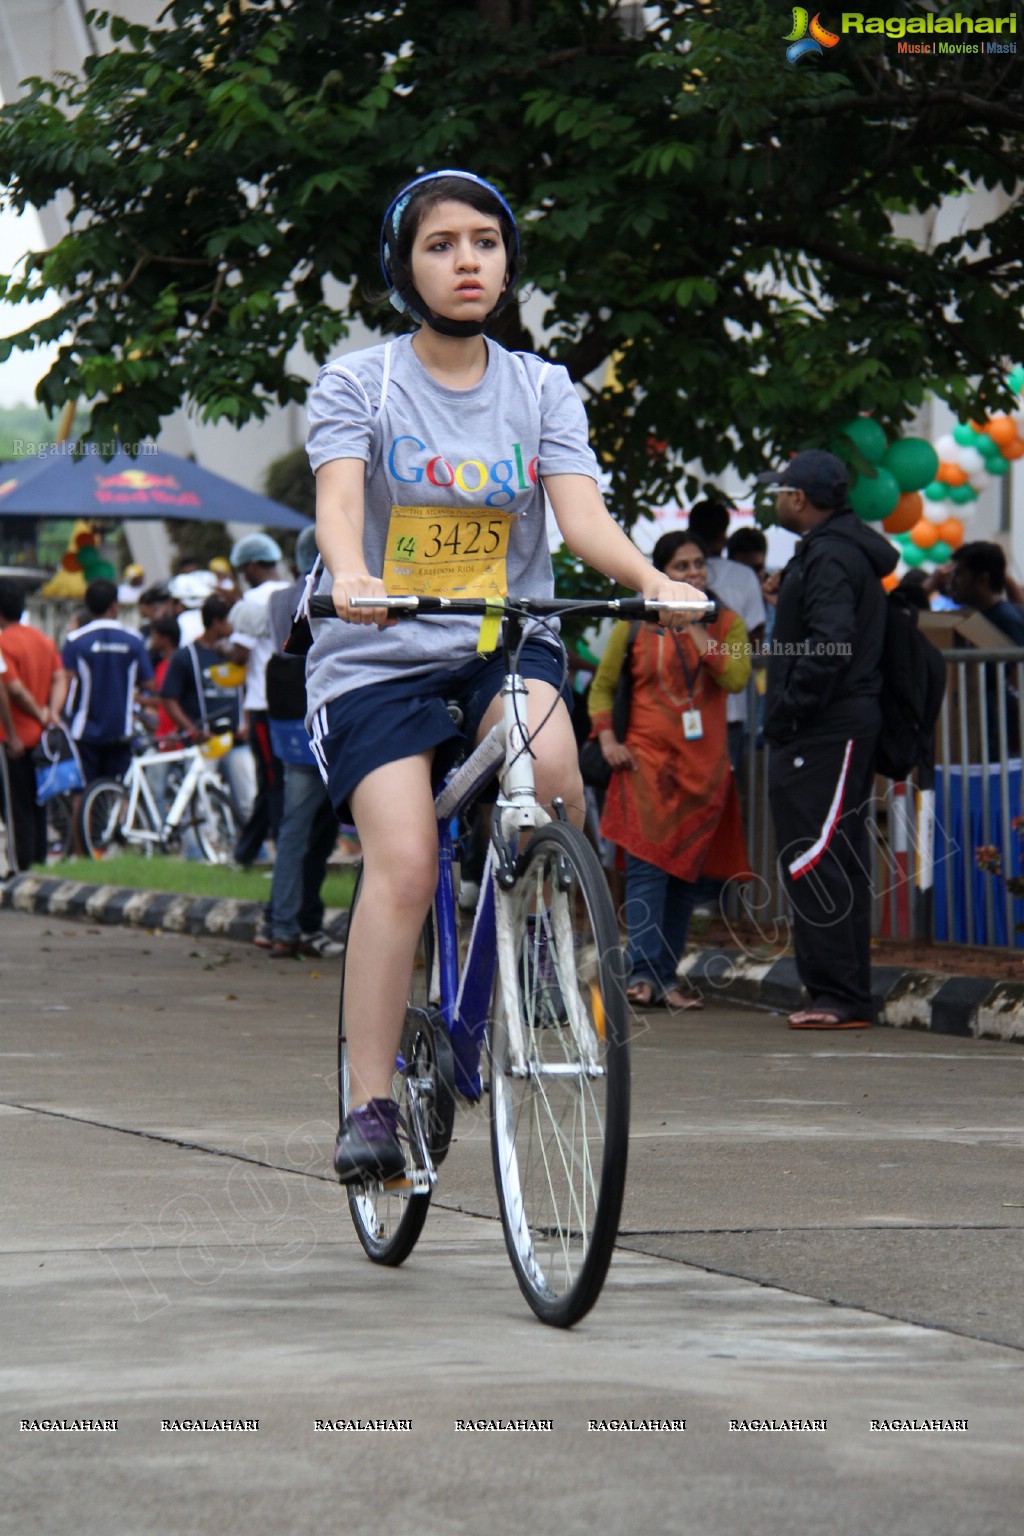
[{"label": "group of people standing at left below the blue canopy", "polygon": [[[120,587],[88,585],[60,650],[25,622],[21,585],[0,578],[0,793],[6,780],[5,825],[18,869],[48,857],[46,806],[37,799],[51,745],[45,733],[72,743],[83,791],[95,779],[123,777],[140,739],[157,746],[229,739],[216,770],[239,826],[233,862],[273,865],[256,943],[273,958],[342,952],[342,938],[324,928],[321,897],[339,828],[333,813],[324,816],[309,737],[302,762],[273,750],[266,691],[267,660],[287,639],[296,573],[315,558],[310,525],[296,541],[292,579],[267,533],[239,539],[230,561],[209,568],[183,559],[166,582],[146,585],[141,568],[127,567]],[[276,614],[272,596],[286,599]],[[123,604],[137,622],[126,622]],[[150,782],[160,790],[164,780]],[[310,785],[315,797],[301,793]]]}]

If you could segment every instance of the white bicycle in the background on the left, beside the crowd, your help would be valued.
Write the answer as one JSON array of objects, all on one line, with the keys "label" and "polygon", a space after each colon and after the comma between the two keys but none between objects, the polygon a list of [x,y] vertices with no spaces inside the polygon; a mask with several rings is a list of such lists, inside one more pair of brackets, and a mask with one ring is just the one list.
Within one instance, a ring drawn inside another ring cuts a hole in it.
[{"label": "white bicycle in the background on the left, beside the crowd", "polygon": [[[124,779],[95,779],[81,802],[81,839],[91,859],[115,852],[167,852],[184,833],[193,833],[207,863],[229,863],[238,825],[230,797],[216,777],[213,762],[230,748],[230,733],[209,742],[184,743],[178,736],[161,739],[169,751],[144,745],[137,750]],[[170,806],[160,809],[161,790],[152,777],[181,771]]]}]

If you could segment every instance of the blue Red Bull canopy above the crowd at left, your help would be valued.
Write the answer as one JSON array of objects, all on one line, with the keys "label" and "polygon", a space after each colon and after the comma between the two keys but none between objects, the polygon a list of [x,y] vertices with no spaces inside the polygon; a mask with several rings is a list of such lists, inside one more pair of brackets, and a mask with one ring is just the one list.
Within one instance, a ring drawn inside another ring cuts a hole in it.
[{"label": "blue Red Bull canopy above the crowd at left", "polygon": [[123,452],[103,459],[89,444],[75,456],[63,442],[46,456],[0,465],[0,518],[190,518],[266,528],[307,528],[310,521],[146,444],[135,459]]}]

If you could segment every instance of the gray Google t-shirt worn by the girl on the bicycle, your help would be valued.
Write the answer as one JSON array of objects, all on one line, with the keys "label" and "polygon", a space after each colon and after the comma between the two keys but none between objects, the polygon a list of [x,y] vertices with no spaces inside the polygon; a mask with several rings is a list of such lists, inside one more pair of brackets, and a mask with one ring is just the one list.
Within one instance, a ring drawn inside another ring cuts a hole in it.
[{"label": "gray Google t-shirt worn by the girl on the bicycle", "polygon": [[[540,481],[545,475],[597,479],[586,415],[565,369],[488,339],[481,382],[451,390],[422,366],[411,336],[401,336],[322,367],[309,421],[313,472],[332,459],[367,465],[365,562],[375,576],[385,576],[388,565],[393,594],[416,590],[416,578],[404,581],[402,573],[415,568],[422,578],[422,559],[439,553],[451,556],[447,590],[457,596],[459,573],[470,579],[479,568],[477,551],[505,548],[505,541],[508,596],[553,594]],[[457,527],[431,522],[428,510],[401,513],[434,507],[457,513]],[[401,564],[407,550],[419,565]],[[324,573],[318,590],[329,594],[330,588]],[[481,621],[416,619],[381,631],[318,619],[312,627],[310,719],[353,688],[461,667],[476,654]]]}]

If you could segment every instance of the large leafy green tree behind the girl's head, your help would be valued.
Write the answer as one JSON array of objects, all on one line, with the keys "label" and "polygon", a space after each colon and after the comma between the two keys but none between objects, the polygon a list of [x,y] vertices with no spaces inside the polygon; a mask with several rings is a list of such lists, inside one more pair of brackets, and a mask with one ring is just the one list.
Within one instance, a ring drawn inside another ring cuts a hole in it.
[{"label": "large leafy green tree behind the girl's head", "polygon": [[[63,338],[41,399],[84,396],[91,435],[127,442],[180,402],[241,424],[302,399],[296,343],[324,358],[348,318],[381,324],[391,189],[465,164],[522,212],[550,355],[576,379],[614,356],[590,412],[626,524],[685,465],[706,484],[754,473],[858,410],[898,429],[929,390],[964,413],[1009,406],[1019,60],[844,34],[789,65],[775,0],[676,0],[634,35],[637,14],[175,0],[163,29],[97,17],[109,52],[0,112],[14,206],[71,195],[71,232],[6,284],[61,296],[14,338]],[[1003,210],[930,247],[906,237],[897,215],[970,186]],[[344,312],[327,278],[350,284]],[[534,346],[514,309],[497,333]]]}]

